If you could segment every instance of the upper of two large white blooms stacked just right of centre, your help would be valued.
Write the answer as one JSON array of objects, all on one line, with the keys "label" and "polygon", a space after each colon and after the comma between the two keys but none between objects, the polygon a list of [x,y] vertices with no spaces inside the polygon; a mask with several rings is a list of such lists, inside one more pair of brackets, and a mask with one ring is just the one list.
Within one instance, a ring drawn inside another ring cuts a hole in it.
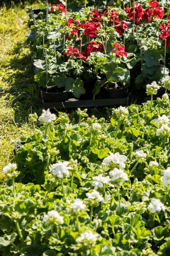
[{"label": "upper of two large white blooms stacked just right of centre", "polygon": [[115,164],[119,164],[119,168],[123,169],[125,168],[125,161],[127,160],[127,157],[124,155],[120,155],[119,152],[116,152],[115,154],[113,153],[109,153],[110,156],[105,157],[105,159],[103,160],[103,163],[105,163],[105,165],[109,166],[109,163],[113,162]]}]

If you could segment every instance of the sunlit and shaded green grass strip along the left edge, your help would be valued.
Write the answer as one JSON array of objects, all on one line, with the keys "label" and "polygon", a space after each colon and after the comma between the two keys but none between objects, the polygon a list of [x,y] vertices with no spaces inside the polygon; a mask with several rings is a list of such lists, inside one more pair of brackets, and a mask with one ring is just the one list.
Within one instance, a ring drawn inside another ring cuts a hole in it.
[{"label": "sunlit and shaded green grass strip along the left edge", "polygon": [[[0,9],[0,171],[14,157],[16,140],[31,133],[28,114],[40,109],[26,44],[28,14],[23,6]],[[18,19],[24,20],[21,23]],[[40,112],[40,111],[39,111]],[[3,175],[0,174],[0,180]]]}]

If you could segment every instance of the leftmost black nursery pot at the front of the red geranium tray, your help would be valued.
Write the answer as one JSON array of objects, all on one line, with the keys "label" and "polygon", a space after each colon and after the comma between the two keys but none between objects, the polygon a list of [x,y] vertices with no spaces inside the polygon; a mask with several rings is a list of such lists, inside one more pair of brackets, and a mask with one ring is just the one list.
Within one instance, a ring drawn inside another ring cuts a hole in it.
[{"label": "leftmost black nursery pot at the front of the red geranium tray", "polygon": [[64,102],[68,99],[68,92],[46,92],[40,89],[44,102]]}]

